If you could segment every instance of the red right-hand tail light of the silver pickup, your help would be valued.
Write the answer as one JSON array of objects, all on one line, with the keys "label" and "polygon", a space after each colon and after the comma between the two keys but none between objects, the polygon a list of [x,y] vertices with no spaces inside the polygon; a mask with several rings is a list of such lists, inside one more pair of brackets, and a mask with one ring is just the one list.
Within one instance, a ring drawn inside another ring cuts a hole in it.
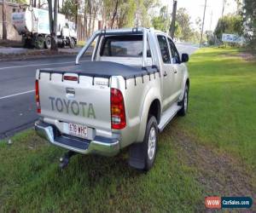
[{"label": "red right-hand tail light of the silver pickup", "polygon": [[124,129],[126,126],[124,98],[119,89],[111,89],[111,128]]}]

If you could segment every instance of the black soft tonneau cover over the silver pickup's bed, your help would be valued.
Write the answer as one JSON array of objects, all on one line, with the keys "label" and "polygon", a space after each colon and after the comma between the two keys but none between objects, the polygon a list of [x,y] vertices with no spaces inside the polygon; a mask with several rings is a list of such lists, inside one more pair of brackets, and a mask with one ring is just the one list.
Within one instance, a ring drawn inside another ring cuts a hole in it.
[{"label": "black soft tonneau cover over the silver pickup's bed", "polygon": [[49,73],[78,73],[90,77],[110,78],[112,76],[122,76],[123,78],[134,78],[159,72],[155,66],[126,66],[111,61],[86,61],[75,66],[65,66],[57,68],[44,68],[40,72]]}]

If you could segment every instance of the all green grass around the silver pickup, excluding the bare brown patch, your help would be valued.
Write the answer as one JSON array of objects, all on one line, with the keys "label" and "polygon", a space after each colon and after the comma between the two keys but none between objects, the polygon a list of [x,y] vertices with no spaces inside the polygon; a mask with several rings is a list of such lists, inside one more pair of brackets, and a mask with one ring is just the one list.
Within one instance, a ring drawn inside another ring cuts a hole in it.
[{"label": "all green grass around the silver pickup, excluding the bare brown patch", "polygon": [[[237,49],[201,49],[189,62],[189,114],[160,135],[148,174],[114,158],[77,155],[58,168],[65,152],[33,130],[0,142],[0,212],[193,212],[204,210],[197,169],[183,160],[171,130],[241,159],[255,168],[256,64]],[[235,57],[234,57],[235,55]]]}]

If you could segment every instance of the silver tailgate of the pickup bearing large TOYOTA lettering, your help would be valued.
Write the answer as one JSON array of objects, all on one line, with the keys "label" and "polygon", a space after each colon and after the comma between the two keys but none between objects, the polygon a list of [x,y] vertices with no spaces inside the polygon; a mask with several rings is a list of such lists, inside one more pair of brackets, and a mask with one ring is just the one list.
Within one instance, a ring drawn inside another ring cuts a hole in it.
[{"label": "silver tailgate of the pickup bearing large TOYOTA lettering", "polygon": [[[41,114],[44,118],[111,130],[108,78],[92,78],[75,73],[40,72],[38,75]],[[77,77],[78,81],[66,80],[67,76]]]}]

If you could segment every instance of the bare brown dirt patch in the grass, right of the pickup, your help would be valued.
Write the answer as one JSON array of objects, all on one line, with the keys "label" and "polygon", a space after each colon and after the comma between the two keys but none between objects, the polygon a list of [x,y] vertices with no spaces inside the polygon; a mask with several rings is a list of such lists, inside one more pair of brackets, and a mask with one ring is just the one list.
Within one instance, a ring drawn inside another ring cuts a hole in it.
[{"label": "bare brown dirt patch in the grass, right of the pickup", "polygon": [[238,159],[199,144],[177,128],[172,127],[171,131],[181,162],[197,170],[196,179],[204,187],[205,196],[249,196],[256,200],[254,171],[249,173]]}]

